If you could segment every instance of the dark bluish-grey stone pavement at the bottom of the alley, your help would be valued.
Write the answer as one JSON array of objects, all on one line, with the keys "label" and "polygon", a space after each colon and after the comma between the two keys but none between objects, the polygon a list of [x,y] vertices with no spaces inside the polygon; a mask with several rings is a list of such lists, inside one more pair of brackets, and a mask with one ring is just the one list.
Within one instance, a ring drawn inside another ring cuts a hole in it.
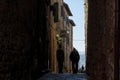
[{"label": "dark bluish-grey stone pavement at the bottom of the alley", "polygon": [[71,73],[48,73],[38,80],[87,80],[88,76],[85,73],[71,74]]}]

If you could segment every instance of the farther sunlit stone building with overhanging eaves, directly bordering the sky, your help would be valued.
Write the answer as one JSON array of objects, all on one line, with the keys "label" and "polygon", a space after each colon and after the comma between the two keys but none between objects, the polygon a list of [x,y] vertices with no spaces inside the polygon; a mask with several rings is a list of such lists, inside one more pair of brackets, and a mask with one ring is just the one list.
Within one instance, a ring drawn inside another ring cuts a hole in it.
[{"label": "farther sunlit stone building with overhanging eaves, directly bordering the sky", "polygon": [[75,23],[73,20],[69,19],[69,16],[73,16],[72,12],[70,10],[70,7],[67,3],[63,3],[63,27],[66,31],[65,37],[63,37],[64,40],[64,51],[65,51],[65,61],[64,61],[64,72],[70,72],[71,71],[71,62],[69,59],[70,52],[73,48],[73,26],[75,26]]}]

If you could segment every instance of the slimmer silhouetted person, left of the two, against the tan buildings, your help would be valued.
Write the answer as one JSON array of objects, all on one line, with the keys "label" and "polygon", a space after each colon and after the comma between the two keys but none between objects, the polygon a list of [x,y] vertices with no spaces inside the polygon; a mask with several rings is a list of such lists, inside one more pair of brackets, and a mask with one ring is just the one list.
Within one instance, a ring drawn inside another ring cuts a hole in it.
[{"label": "slimmer silhouetted person, left of the two, against the tan buildings", "polygon": [[63,71],[63,62],[64,62],[64,51],[62,50],[62,46],[59,45],[59,48],[57,50],[57,61],[58,61],[58,68],[59,73],[62,73]]}]

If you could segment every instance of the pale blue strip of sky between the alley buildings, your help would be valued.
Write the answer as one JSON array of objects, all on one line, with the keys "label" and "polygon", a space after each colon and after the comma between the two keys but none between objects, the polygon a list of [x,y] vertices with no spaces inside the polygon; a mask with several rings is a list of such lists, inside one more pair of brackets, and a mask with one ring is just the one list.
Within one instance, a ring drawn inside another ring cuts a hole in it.
[{"label": "pale blue strip of sky between the alley buildings", "polygon": [[73,46],[82,54],[85,52],[84,0],[64,0],[73,16],[69,17],[76,24],[73,27]]}]

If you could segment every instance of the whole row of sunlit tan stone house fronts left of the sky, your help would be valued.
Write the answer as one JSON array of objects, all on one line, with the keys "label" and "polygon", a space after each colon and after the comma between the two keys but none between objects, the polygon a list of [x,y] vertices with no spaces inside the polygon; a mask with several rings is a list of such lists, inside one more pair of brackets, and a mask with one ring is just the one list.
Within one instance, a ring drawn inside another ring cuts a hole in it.
[{"label": "whole row of sunlit tan stone house fronts left of the sky", "polygon": [[[58,72],[58,63],[56,59],[56,51],[58,45],[61,44],[64,50],[65,60],[63,71],[69,72],[70,68],[70,60],[69,53],[72,50],[72,29],[74,26],[74,22],[69,20],[69,16],[72,16],[72,13],[69,9],[69,6],[64,3],[63,0],[57,1],[53,0],[50,4],[50,44],[51,44],[51,54],[49,60],[49,69],[51,72]],[[70,34],[67,34],[67,32]],[[69,37],[70,36],[70,37]],[[67,45],[67,41],[69,40],[69,45]],[[69,50],[68,50],[69,49]]]}]

